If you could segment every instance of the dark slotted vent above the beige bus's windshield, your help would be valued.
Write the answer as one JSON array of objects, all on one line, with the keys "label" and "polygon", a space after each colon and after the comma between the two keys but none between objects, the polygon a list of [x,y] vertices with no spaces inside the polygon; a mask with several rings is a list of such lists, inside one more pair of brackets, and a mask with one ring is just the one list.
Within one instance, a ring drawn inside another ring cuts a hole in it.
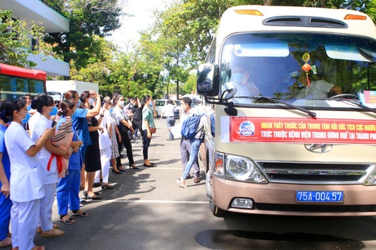
[{"label": "dark slotted vent above the beige bus's windshield", "polygon": [[347,28],[345,22],[325,17],[307,17],[307,16],[280,16],[269,17],[263,21],[264,25],[269,26],[302,26],[302,27],[320,27],[320,28]]}]

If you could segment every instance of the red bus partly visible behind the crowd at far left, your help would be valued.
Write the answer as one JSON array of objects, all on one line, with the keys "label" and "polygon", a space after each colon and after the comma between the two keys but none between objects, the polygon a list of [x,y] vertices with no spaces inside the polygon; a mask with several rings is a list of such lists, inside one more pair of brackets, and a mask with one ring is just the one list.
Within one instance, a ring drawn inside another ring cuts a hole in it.
[{"label": "red bus partly visible behind the crowd at far left", "polygon": [[46,92],[46,72],[0,63],[0,100]]}]

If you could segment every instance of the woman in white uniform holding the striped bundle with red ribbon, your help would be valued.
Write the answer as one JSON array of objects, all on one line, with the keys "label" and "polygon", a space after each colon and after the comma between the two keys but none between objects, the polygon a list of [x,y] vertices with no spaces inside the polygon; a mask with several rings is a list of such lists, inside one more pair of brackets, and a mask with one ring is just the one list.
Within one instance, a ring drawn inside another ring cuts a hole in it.
[{"label": "woman in white uniform holding the striped bundle with red ribbon", "polygon": [[[40,113],[40,117],[36,121],[33,132],[30,135],[31,140],[36,142],[47,128],[52,127],[51,117],[57,114],[57,108],[54,99],[47,94],[42,94],[38,99],[33,100],[31,108]],[[38,231],[42,233],[42,237],[59,236],[64,233],[64,231],[57,229],[57,225],[52,224],[52,206],[58,182],[57,159],[56,157],[52,157],[52,153],[69,158],[72,151],[59,149],[52,144],[51,140],[47,140],[45,146],[38,153],[40,173],[42,173],[45,188],[45,197],[40,199],[40,228],[38,228]]]}]

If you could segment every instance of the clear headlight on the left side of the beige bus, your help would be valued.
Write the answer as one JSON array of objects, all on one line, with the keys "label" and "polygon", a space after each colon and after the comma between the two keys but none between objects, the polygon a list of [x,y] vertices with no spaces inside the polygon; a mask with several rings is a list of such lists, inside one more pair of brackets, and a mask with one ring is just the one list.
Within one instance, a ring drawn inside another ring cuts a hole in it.
[{"label": "clear headlight on the left side of the beige bus", "polygon": [[251,183],[267,183],[263,173],[249,158],[227,155],[225,168],[226,178]]}]

